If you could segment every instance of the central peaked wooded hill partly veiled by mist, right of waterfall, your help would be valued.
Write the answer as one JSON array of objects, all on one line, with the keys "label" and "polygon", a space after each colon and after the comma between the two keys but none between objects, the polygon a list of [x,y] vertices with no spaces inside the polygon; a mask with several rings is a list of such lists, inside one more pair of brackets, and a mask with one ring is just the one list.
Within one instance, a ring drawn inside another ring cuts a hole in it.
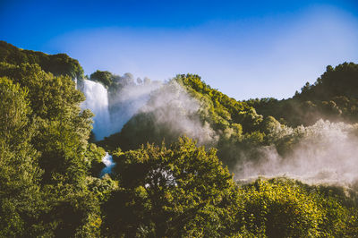
[{"label": "central peaked wooded hill partly veiled by mist, right of waterfall", "polygon": [[[255,108],[211,89],[198,75],[178,75],[154,91],[147,109],[134,115],[120,133],[98,144],[136,149],[147,141],[170,144],[186,134],[202,145],[215,146],[225,164],[234,166],[240,157],[237,150],[251,153],[252,145],[265,144],[267,125]],[[193,127],[201,127],[201,132],[192,132]]]}]

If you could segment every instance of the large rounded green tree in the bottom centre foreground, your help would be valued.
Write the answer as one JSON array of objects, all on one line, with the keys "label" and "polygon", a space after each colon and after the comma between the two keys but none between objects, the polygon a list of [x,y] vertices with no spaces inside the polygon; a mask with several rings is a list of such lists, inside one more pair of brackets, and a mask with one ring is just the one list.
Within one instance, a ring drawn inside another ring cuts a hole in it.
[{"label": "large rounded green tree in the bottom centre foreground", "polygon": [[214,149],[181,138],[116,154],[119,189],[105,204],[108,236],[219,236],[233,232],[237,190]]}]

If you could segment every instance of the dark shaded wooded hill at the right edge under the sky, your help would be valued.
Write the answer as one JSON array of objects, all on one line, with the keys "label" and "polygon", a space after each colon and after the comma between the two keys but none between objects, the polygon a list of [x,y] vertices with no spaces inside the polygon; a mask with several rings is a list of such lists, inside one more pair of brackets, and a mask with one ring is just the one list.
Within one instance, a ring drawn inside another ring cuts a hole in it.
[{"label": "dark shaded wooded hill at the right edge under the sky", "polygon": [[296,126],[309,125],[320,118],[330,121],[357,122],[358,64],[344,63],[326,72],[313,84],[307,82],[293,98],[256,98],[247,103],[260,115],[272,115],[280,122]]}]

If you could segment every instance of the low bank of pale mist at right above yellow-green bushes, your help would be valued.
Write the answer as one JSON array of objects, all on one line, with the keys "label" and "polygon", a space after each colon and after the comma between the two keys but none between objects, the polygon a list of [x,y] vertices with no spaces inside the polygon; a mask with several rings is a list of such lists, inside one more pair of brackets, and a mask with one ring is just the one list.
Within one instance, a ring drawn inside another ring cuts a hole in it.
[{"label": "low bank of pale mist at right above yellow-green bushes", "polygon": [[287,176],[306,183],[358,189],[356,132],[356,125],[323,120],[307,127],[281,128],[276,136],[278,140],[293,141],[292,151],[282,156],[275,145],[271,145],[259,149],[258,159],[243,155],[244,159],[236,166],[235,177],[250,181],[258,176]]}]

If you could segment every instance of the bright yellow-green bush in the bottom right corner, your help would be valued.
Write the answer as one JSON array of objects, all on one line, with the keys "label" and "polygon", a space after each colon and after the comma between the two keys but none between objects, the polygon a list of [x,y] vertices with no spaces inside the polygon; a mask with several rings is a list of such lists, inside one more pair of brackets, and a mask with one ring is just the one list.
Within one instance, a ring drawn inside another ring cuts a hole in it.
[{"label": "bright yellow-green bush in the bottom right corner", "polygon": [[243,209],[238,217],[243,216],[243,225],[255,236],[347,237],[356,231],[356,215],[315,186],[284,178],[259,179],[240,191]]}]

